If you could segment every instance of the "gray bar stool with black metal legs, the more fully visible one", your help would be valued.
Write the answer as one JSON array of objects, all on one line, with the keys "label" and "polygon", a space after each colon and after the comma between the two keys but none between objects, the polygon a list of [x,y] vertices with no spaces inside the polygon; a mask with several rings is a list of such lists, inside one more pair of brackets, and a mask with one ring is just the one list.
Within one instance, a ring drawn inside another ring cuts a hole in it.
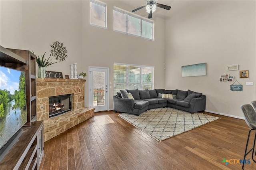
[{"label": "gray bar stool with black metal legs, the more fully visible one", "polygon": [[[251,133],[252,130],[256,131],[256,111],[253,109],[252,105],[241,105],[240,108],[242,109],[242,111],[244,113],[244,119],[245,119],[247,125],[251,128],[249,130],[249,133],[248,133],[247,143],[246,143],[245,152],[244,152],[244,160],[245,160],[246,155],[248,155],[252,151],[252,160],[254,162],[256,162],[256,160],[254,160],[254,158],[253,158],[255,140],[256,140],[256,133],[255,133],[255,136],[254,136],[253,147],[247,152],[250,133]],[[255,155],[256,155],[256,153],[255,153]],[[242,169],[244,169],[244,161],[243,161]]]}]

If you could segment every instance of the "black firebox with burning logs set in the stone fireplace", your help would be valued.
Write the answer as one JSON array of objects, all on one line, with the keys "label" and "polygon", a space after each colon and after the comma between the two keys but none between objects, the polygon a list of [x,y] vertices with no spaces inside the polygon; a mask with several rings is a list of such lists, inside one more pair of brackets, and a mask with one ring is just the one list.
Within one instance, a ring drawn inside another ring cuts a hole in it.
[{"label": "black firebox with burning logs set in the stone fireplace", "polygon": [[72,109],[71,94],[49,97],[49,117],[54,117]]}]

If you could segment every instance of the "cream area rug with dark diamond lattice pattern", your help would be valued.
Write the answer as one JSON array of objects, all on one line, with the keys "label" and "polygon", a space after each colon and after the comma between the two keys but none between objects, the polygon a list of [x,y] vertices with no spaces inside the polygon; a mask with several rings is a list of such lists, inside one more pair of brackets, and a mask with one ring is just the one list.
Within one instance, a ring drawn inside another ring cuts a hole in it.
[{"label": "cream area rug with dark diamond lattice pattern", "polygon": [[219,119],[203,113],[191,114],[170,107],[150,109],[139,116],[130,113],[121,113],[118,116],[160,142]]}]

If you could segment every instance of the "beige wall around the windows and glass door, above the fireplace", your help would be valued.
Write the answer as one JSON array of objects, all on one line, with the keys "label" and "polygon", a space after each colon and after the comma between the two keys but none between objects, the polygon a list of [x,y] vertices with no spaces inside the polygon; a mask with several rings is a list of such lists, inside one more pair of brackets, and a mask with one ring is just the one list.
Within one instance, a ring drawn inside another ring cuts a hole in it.
[{"label": "beige wall around the windows and glass door, above the fireplace", "polygon": [[[78,73],[86,72],[88,67],[109,67],[110,81],[113,84],[113,64],[128,63],[155,66],[155,87],[162,88],[164,82],[164,20],[155,19],[155,40],[146,40],[113,31],[113,6],[130,10],[132,7],[118,1],[104,1],[108,8],[108,29],[90,26],[90,1],[22,1],[22,10],[8,9],[10,1],[1,1],[1,45],[6,48],[27,49],[36,55],[50,55],[53,42],[64,43],[67,48],[65,61],[56,63],[46,70],[70,73],[70,64],[78,63]],[[17,9],[20,1],[16,3]],[[5,10],[4,10],[5,9]],[[4,18],[4,24],[2,24]],[[9,22],[18,26],[8,29]],[[21,21],[20,21],[21,20]],[[20,23],[21,22],[21,23]],[[4,30],[4,32],[2,32]],[[17,34],[20,39],[9,37]],[[16,45],[14,44],[14,41]],[[53,59],[55,60],[55,59]],[[88,107],[88,76],[86,77],[85,106]],[[113,86],[112,86],[113,87]],[[109,108],[113,108],[113,89],[109,90]]]}]

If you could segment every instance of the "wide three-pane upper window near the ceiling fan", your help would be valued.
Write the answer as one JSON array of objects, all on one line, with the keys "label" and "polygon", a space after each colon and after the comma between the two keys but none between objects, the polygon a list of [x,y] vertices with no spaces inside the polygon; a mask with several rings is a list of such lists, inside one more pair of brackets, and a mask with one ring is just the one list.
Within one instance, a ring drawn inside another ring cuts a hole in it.
[{"label": "wide three-pane upper window near the ceiling fan", "polygon": [[114,30],[154,40],[154,22],[114,8]]}]

